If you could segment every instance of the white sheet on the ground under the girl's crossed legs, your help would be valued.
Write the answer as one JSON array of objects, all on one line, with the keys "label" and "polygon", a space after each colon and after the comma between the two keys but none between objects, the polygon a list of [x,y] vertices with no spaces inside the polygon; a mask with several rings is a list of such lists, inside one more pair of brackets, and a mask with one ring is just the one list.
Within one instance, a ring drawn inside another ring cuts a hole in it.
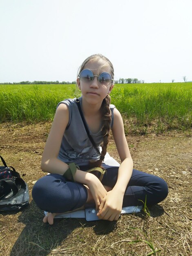
[{"label": "white sheet on the ground under the girl's crossed legs", "polygon": [[[142,206],[127,206],[123,207],[121,214],[125,213],[138,213],[142,209]],[[47,211],[44,211],[45,215],[47,215]],[[63,213],[56,215],[55,218],[85,218],[85,210],[73,211],[70,213]]]}]

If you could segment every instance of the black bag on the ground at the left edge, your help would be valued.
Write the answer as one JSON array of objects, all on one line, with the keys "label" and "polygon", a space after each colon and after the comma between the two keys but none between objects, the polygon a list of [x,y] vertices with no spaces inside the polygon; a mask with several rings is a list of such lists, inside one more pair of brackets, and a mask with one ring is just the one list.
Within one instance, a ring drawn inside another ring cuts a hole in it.
[{"label": "black bag on the ground at the left edge", "polygon": [[0,211],[18,211],[29,204],[27,183],[12,166],[7,166],[0,156]]}]

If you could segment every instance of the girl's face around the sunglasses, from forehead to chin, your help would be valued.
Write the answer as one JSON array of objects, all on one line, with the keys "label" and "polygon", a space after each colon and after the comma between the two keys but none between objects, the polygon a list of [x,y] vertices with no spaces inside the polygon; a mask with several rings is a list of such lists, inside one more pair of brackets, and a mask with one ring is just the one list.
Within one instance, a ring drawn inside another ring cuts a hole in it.
[{"label": "girl's face around the sunglasses, from forehead to chin", "polygon": [[102,65],[105,65],[106,62],[100,59],[90,60],[83,70],[89,69],[93,72],[94,79],[92,81],[82,81],[82,79],[77,79],[78,88],[81,90],[83,98],[87,100],[90,104],[102,103],[106,95],[109,94],[113,88],[113,84],[102,85],[98,81],[98,76],[103,72],[111,73],[109,65],[106,65],[100,68]]}]

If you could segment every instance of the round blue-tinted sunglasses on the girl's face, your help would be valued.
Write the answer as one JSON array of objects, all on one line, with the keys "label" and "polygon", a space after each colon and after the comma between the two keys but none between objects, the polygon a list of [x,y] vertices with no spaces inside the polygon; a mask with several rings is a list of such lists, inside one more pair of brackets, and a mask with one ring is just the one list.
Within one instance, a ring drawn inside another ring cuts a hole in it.
[{"label": "round blue-tinted sunglasses on the girl's face", "polygon": [[[78,77],[80,77],[80,79],[85,83],[90,83],[91,81],[93,81],[94,76],[97,76],[97,75],[94,75],[93,72],[88,69],[82,70],[78,75]],[[98,82],[101,85],[108,86],[110,83],[113,82],[113,79],[108,72],[103,72],[98,76]]]}]

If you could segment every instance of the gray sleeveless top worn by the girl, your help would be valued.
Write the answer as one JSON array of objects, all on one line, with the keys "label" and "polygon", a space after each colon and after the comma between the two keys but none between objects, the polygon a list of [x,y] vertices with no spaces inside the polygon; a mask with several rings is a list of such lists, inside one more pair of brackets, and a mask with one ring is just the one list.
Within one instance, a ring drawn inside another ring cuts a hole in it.
[{"label": "gray sleeveless top worn by the girl", "polygon": [[[82,104],[82,97],[80,99],[80,105]],[[58,103],[58,106],[61,103],[67,105],[69,109],[69,123],[65,129],[63,139],[61,142],[58,159],[65,163],[75,162],[78,165],[88,164],[90,159],[98,160],[100,156],[98,155],[96,149],[92,145],[91,141],[87,136],[83,121],[81,119],[78,106],[76,104],[76,98],[74,99],[65,99]],[[58,108],[57,106],[57,108]],[[112,124],[114,119],[114,110],[115,106],[110,105],[112,112]],[[87,126],[88,127],[88,126]],[[88,127],[89,129],[89,127]],[[97,133],[92,133],[89,130],[90,135],[94,139],[96,146],[100,149],[100,144],[103,141],[103,136],[101,131]]]}]

